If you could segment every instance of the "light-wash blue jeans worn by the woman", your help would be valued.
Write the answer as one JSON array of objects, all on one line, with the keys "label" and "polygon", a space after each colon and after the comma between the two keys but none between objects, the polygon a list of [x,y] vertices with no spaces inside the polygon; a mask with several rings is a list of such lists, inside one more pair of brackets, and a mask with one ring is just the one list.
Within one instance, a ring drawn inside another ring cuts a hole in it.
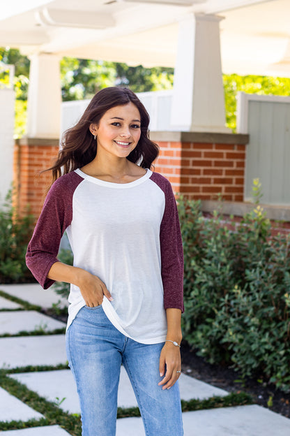
[{"label": "light-wash blue jeans worn by the woman", "polygon": [[158,383],[162,344],[140,344],[117,330],[102,306],[82,307],[66,337],[68,362],[79,394],[82,436],[115,436],[121,364],[135,391],[146,436],[182,436],[178,382]]}]

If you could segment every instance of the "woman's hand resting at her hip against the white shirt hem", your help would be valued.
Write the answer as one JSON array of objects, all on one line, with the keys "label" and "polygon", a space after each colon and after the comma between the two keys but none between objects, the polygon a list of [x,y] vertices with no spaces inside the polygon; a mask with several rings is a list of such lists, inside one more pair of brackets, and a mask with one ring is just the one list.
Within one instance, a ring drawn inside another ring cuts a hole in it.
[{"label": "woman's hand resting at her hip against the white shirt hem", "polygon": [[105,283],[96,275],[82,270],[77,282],[77,286],[79,287],[87,306],[95,307],[101,305],[104,296],[106,296],[110,301],[113,300]]}]

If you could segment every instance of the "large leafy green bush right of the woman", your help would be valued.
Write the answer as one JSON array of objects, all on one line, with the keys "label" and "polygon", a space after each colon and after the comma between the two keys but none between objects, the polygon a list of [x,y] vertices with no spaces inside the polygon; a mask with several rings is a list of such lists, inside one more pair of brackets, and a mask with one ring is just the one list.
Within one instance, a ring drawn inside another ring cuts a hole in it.
[{"label": "large leafy green bush right of the woman", "polygon": [[179,198],[178,211],[183,337],[209,362],[231,363],[244,377],[263,376],[289,391],[289,236],[272,236],[259,205],[239,224],[219,211],[205,218],[199,201]]}]

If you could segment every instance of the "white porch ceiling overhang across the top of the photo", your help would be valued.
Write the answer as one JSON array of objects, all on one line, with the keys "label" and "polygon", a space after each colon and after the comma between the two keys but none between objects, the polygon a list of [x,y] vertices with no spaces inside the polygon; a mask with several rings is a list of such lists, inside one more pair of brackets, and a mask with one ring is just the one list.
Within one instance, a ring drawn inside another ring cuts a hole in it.
[{"label": "white porch ceiling overhang across the top of the photo", "polygon": [[219,14],[225,73],[290,77],[289,0],[10,0],[0,45],[25,54],[174,66],[178,24]]}]

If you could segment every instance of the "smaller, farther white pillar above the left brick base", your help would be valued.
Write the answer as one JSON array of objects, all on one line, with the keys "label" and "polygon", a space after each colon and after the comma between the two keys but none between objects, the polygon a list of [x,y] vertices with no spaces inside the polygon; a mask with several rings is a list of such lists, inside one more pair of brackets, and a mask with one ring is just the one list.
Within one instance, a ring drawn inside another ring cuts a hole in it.
[{"label": "smaller, farther white pillar above the left brick base", "polygon": [[59,138],[61,129],[61,79],[59,57],[33,54],[30,62],[27,107],[29,138]]}]

